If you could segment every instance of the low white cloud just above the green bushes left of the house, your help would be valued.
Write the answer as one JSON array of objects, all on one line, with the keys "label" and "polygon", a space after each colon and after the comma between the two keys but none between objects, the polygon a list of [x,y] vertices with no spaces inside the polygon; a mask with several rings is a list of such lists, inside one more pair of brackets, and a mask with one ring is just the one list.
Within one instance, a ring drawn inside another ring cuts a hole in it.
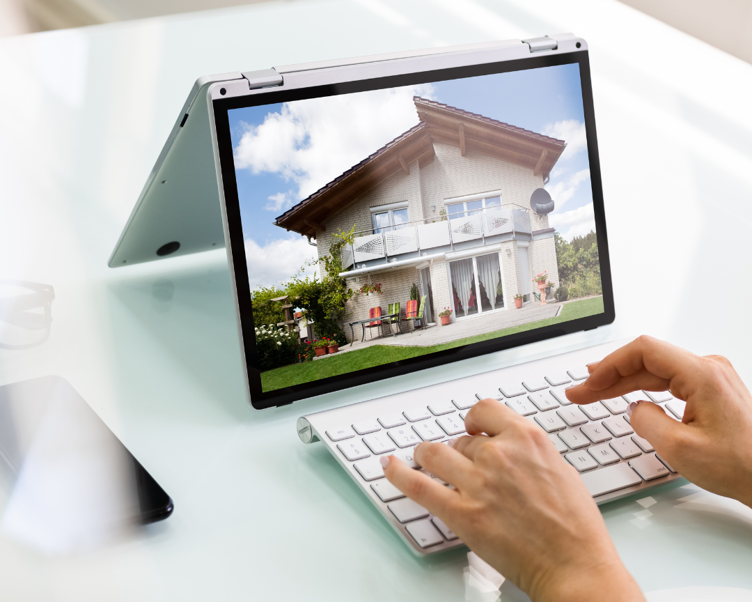
[{"label": "low white cloud just above the green bushes left of the house", "polygon": [[[316,258],[316,248],[308,244],[305,236],[268,241],[263,247],[252,239],[245,242],[245,261],[251,288],[286,281],[296,275],[306,260]],[[314,272],[316,266],[309,267],[305,273],[313,275]]]}]

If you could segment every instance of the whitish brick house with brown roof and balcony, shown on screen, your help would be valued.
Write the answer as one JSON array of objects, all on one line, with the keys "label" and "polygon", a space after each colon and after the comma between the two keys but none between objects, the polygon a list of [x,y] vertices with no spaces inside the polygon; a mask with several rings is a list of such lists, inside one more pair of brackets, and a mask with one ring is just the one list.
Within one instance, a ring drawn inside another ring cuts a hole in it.
[{"label": "whitish brick house with brown roof and balcony, shown on screen", "polygon": [[[303,199],[276,224],[315,238],[320,257],[332,233],[356,227],[342,253],[353,289],[381,283],[382,295],[356,295],[351,319],[401,303],[411,284],[426,295],[426,318],[445,307],[452,320],[514,311],[531,303],[532,278],[558,281],[553,228],[530,209],[566,142],[439,102],[414,97],[417,123]],[[349,334],[349,333],[348,333]]]}]

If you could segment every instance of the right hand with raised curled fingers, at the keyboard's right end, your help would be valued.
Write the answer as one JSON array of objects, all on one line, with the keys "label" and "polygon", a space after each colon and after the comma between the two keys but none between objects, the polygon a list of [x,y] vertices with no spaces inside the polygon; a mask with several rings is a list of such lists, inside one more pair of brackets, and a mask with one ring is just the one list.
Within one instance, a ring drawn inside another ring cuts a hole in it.
[{"label": "right hand with raised curled fingers, at the keyboard's right end", "polygon": [[686,401],[681,422],[649,402],[632,403],[626,413],[635,433],[682,476],[752,507],[752,396],[729,360],[641,336],[589,369],[586,382],[566,391],[573,403],[638,389],[670,389]]}]

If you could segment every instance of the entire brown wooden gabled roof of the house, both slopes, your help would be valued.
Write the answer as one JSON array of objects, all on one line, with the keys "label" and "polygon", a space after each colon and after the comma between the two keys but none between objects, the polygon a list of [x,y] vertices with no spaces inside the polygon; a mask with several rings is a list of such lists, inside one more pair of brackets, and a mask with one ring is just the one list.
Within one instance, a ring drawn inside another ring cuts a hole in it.
[{"label": "entire brown wooden gabled roof of the house, both slopes", "polygon": [[316,236],[325,231],[323,223],[329,217],[400,169],[409,174],[415,160],[421,168],[431,163],[435,141],[459,147],[462,157],[468,149],[475,150],[532,169],[535,175],[547,175],[566,147],[563,140],[441,102],[420,96],[413,101],[420,118],[416,126],[285,211],[277,217],[277,226]]}]

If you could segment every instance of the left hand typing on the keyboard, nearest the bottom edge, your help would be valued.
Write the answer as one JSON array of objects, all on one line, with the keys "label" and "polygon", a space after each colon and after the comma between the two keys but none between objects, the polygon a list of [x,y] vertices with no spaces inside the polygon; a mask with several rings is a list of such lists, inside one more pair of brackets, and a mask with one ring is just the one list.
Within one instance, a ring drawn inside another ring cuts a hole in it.
[{"label": "left hand typing on the keyboard, nearest the bottom edge", "polygon": [[454,488],[393,456],[387,479],[532,600],[644,600],[593,497],[543,429],[491,399],[473,406],[465,427],[472,436],[453,447],[415,449],[415,460]]}]

